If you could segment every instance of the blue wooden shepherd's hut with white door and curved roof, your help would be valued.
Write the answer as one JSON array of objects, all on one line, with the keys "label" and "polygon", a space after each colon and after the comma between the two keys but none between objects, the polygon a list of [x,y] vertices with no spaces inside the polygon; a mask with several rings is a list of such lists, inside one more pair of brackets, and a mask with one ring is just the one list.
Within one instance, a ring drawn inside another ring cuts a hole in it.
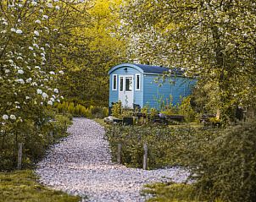
[{"label": "blue wooden shepherd's hut with white door and curved roof", "polygon": [[[172,71],[172,72],[171,72]],[[187,78],[181,70],[144,64],[122,63],[109,70],[109,106],[121,101],[122,106],[149,106],[159,109],[172,97],[172,104],[189,96],[195,79]],[[168,76],[164,76],[167,73]]]}]

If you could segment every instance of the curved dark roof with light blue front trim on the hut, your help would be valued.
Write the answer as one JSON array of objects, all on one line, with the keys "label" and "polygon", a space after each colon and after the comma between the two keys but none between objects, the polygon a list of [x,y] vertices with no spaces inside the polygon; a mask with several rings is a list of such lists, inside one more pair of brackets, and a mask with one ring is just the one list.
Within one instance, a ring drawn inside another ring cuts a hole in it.
[{"label": "curved dark roof with light blue front trim on the hut", "polygon": [[164,74],[164,72],[169,72],[170,68],[164,68],[159,66],[151,66],[146,64],[131,64],[131,63],[122,63],[119,65],[114,66],[109,70],[109,74],[114,72],[117,68],[124,68],[124,67],[131,67],[136,68],[141,73],[147,73],[147,74]]}]

